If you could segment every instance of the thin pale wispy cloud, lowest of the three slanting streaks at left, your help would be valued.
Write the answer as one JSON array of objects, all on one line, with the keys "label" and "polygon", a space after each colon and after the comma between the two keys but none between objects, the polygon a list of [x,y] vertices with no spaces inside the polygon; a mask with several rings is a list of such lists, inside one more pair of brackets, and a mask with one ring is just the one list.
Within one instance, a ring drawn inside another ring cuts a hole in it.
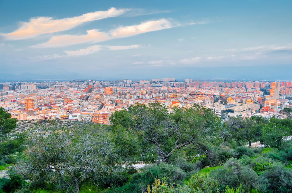
[{"label": "thin pale wispy cloud, lowest of the three slanting streaks at left", "polygon": [[127,46],[102,46],[102,45],[93,45],[89,46],[84,49],[74,50],[74,51],[64,51],[66,55],[58,55],[58,54],[52,54],[52,55],[42,55],[37,57],[30,57],[34,60],[48,60],[48,59],[57,59],[57,58],[63,58],[63,57],[72,57],[72,56],[84,56],[84,55],[90,55],[94,52],[98,52],[100,50],[127,50],[127,49],[134,49],[134,48],[141,48],[141,45],[127,45]]}]

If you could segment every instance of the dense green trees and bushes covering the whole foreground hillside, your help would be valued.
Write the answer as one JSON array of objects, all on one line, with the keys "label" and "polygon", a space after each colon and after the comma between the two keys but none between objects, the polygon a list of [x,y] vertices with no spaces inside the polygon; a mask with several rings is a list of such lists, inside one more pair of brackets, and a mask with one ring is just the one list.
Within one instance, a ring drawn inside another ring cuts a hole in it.
[{"label": "dense green trees and bushes covering the whole foreground hillside", "polygon": [[[111,125],[70,127],[46,121],[17,134],[16,120],[0,109],[0,169],[11,168],[0,191],[292,192],[291,119],[230,117],[222,123],[204,107],[169,112],[160,103],[136,104],[110,119]],[[257,141],[265,148],[251,145]]]}]

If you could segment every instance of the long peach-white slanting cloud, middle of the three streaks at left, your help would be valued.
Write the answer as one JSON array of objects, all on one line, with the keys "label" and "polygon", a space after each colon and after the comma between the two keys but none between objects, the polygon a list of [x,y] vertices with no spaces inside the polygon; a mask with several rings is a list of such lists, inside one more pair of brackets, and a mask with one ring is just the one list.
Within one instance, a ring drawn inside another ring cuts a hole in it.
[{"label": "long peach-white slanting cloud, middle of the three streaks at left", "polygon": [[157,31],[161,29],[167,29],[173,27],[171,23],[166,19],[142,22],[138,25],[118,27],[108,33],[100,32],[97,29],[88,30],[85,35],[61,35],[53,36],[46,43],[34,45],[34,48],[47,48],[47,47],[61,47],[67,45],[73,45],[85,42],[100,42],[110,39],[123,38],[128,36],[134,36],[150,31]]}]

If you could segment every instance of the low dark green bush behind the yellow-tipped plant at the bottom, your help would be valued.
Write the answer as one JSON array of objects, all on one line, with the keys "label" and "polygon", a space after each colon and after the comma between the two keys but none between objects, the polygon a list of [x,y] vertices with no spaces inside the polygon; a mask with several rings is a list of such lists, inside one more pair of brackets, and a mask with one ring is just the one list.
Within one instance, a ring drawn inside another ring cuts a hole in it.
[{"label": "low dark green bush behind the yellow-tipped plant at the bottom", "polygon": [[155,178],[167,178],[168,184],[180,184],[185,177],[185,171],[179,167],[161,162],[159,165],[151,164],[145,166],[141,173],[133,174],[128,183],[121,187],[114,187],[109,192],[141,193],[147,191],[147,185],[153,184]]}]

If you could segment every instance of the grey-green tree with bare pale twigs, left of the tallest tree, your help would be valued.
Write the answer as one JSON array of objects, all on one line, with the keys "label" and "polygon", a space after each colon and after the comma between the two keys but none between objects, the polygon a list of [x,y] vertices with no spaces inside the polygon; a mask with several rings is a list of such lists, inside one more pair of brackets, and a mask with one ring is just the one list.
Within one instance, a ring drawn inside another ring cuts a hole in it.
[{"label": "grey-green tree with bare pale twigs, left of the tallest tree", "polygon": [[79,186],[98,184],[120,170],[110,140],[102,130],[80,125],[66,128],[37,127],[30,131],[27,160],[20,172],[32,185],[51,182],[59,190],[79,192]]}]

